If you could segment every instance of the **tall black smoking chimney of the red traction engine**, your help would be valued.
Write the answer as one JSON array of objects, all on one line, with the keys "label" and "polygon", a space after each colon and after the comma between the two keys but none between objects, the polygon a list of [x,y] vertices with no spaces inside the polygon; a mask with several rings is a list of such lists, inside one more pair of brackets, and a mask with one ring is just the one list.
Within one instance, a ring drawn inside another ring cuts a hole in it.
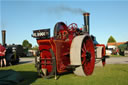
[{"label": "tall black smoking chimney of the red traction engine", "polygon": [[84,16],[84,32],[87,32],[89,34],[89,15],[90,13],[83,13]]}]

